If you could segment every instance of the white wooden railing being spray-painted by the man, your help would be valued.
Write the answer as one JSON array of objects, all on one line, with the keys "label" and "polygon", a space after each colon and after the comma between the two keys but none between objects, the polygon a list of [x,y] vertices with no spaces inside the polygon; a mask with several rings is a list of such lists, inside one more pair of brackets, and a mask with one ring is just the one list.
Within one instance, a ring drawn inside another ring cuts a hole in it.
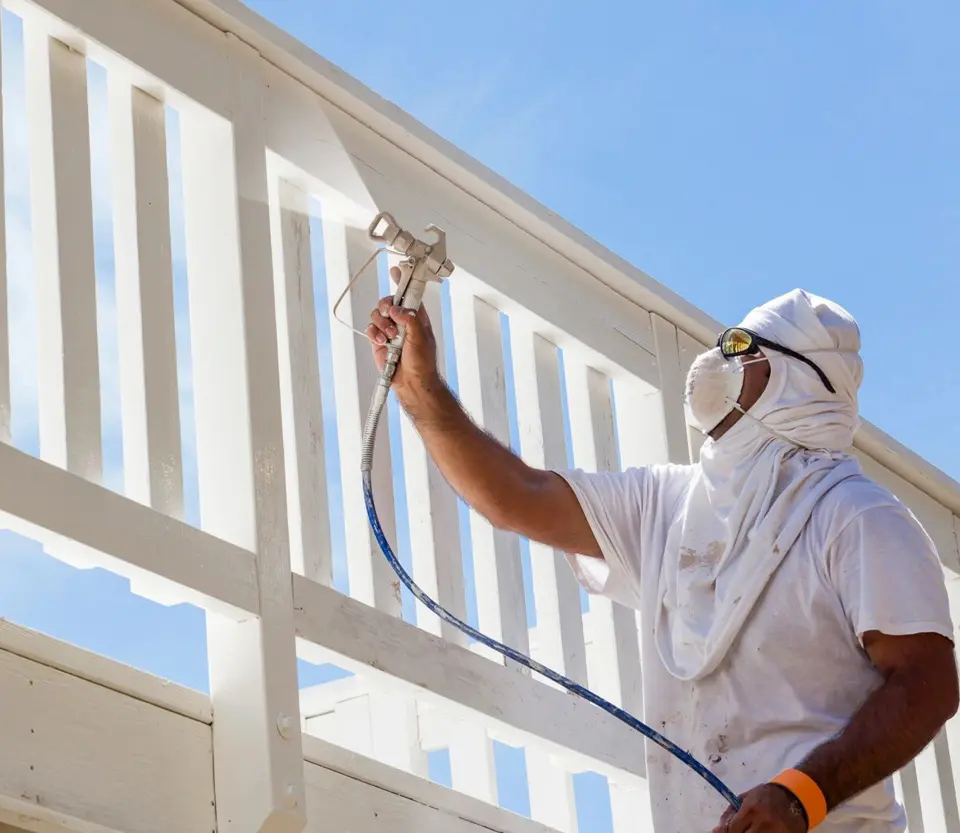
[{"label": "white wooden railing being spray-painted by the man", "polygon": [[[454,790],[492,804],[500,739],[524,750],[535,821],[576,830],[572,777],[593,771],[609,782],[614,830],[646,829],[642,745],[619,723],[423,609],[404,621],[360,489],[374,371],[366,345],[331,326],[326,299],[372,251],[363,230],[377,211],[414,230],[442,226],[457,271],[428,306],[462,401],[531,462],[597,470],[696,454],[681,385],[719,324],[235,0],[3,5],[23,22],[40,449],[9,444],[17,404],[0,361],[0,513],[57,558],[207,611],[220,829],[307,821],[311,768],[347,766],[311,734],[416,775],[446,748]],[[94,65],[109,89],[120,488],[103,462]],[[170,141],[181,170],[168,168]],[[170,195],[181,191],[189,360],[171,254]],[[370,280],[351,291],[355,325],[381,290]],[[3,330],[0,358],[7,346]],[[375,467],[381,519],[393,540],[409,529],[421,586],[461,616],[475,599],[485,632],[641,712],[635,614],[599,599],[583,612],[562,555],[544,547],[529,545],[525,575],[527,545],[464,512],[406,420],[394,414],[392,429]],[[198,522],[184,437],[196,449]],[[870,426],[859,451],[924,522],[955,592],[960,487]],[[342,505],[328,494],[337,482]],[[346,582],[334,581],[338,564]],[[301,692],[298,656],[356,676]],[[914,833],[960,833],[958,742],[954,723],[898,779]],[[393,778],[380,764],[369,783]],[[420,800],[413,781],[398,783],[390,789]],[[8,786],[0,778],[0,792]],[[473,823],[520,829],[502,811]]]}]

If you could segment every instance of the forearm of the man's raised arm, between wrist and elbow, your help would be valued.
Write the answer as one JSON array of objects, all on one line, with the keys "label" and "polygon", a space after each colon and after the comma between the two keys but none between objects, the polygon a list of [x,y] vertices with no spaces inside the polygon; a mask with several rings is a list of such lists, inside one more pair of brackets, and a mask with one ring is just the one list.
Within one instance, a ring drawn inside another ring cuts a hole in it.
[{"label": "forearm of the man's raised arm, between wrist and elbow", "polygon": [[478,427],[439,376],[398,397],[453,490],[494,526],[508,525],[530,467]]}]

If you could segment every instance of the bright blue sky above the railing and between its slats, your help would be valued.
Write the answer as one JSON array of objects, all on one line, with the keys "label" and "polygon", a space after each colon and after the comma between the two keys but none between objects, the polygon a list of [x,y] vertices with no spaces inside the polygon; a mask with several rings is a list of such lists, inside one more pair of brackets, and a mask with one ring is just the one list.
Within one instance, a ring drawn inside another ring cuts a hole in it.
[{"label": "bright blue sky above the railing and between its slats", "polygon": [[[411,0],[400,10],[382,0],[249,5],[716,318],[733,323],[797,286],[844,304],[863,331],[864,415],[960,478],[955,4],[600,2],[589,14],[582,3],[504,0]],[[16,19],[4,13],[4,25],[14,439],[35,452],[22,56]],[[122,490],[109,167],[97,127],[103,72],[92,67],[90,77],[106,479]],[[186,485],[196,522],[172,113],[170,136]],[[326,342],[321,332],[324,363]],[[333,451],[335,425],[328,432]],[[334,453],[327,462],[336,549]],[[402,524],[398,541],[408,557]],[[343,588],[342,557],[337,564]],[[158,607],[131,596],[123,580],[75,571],[6,533],[0,616],[206,687],[198,611]],[[328,671],[302,665],[302,680]],[[498,762],[502,800],[524,811],[522,755],[498,746]],[[433,763],[446,780],[443,757]],[[599,779],[578,780],[581,830],[608,829],[603,792]]]}]

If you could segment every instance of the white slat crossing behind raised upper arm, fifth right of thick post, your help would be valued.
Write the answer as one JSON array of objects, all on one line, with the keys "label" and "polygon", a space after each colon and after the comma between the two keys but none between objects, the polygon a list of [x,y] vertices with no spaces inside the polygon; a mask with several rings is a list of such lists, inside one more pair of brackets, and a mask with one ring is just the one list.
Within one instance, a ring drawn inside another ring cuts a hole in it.
[{"label": "white slat crossing behind raised upper arm, fifth right of thick post", "polygon": [[[557,348],[510,320],[520,453],[536,468],[566,468],[563,398]],[[530,542],[537,608],[537,659],[575,682],[587,680],[580,591],[559,550]]]}]

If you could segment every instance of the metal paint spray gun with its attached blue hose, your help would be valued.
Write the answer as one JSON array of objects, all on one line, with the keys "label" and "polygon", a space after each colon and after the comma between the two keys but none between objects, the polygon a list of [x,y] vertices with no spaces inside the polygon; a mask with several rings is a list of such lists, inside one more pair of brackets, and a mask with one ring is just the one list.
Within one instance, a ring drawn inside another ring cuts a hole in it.
[{"label": "metal paint spray gun with its attached blue hose", "polygon": [[[444,232],[432,225],[428,226],[426,230],[433,232],[436,235],[437,239],[435,242],[425,243],[422,240],[418,240],[410,232],[404,231],[397,224],[396,220],[394,220],[390,214],[385,212],[378,214],[368,229],[368,233],[372,240],[385,244],[386,249],[392,250],[403,256],[404,259],[399,264],[400,280],[397,284],[397,291],[394,295],[393,302],[396,306],[408,309],[413,313],[416,313],[420,309],[427,284],[431,281],[440,282],[444,278],[450,277],[454,271],[453,263],[447,258],[447,238]],[[350,280],[350,284],[344,290],[343,295],[340,296],[340,299],[338,299],[337,303],[334,305],[334,315],[336,315],[337,306],[339,306],[340,301],[349,291],[350,286],[352,286],[353,283],[360,277],[367,266],[373,262],[377,254],[383,250],[384,249],[378,249],[376,252],[374,252],[370,259],[360,268],[360,271],[357,272],[357,274]],[[508,645],[503,645],[502,643],[491,639],[490,637],[480,633],[480,631],[468,625],[466,622],[460,621],[456,616],[442,608],[426,593],[424,593],[404,569],[403,565],[394,554],[393,549],[390,546],[390,542],[387,541],[383,529],[380,526],[380,521],[377,517],[376,506],[373,500],[371,473],[373,469],[373,448],[376,442],[377,426],[380,422],[380,416],[383,413],[383,408],[387,402],[387,395],[390,391],[390,384],[393,379],[393,374],[396,372],[397,365],[400,362],[405,338],[405,328],[400,327],[397,335],[387,344],[387,360],[384,363],[383,370],[380,373],[380,378],[374,390],[373,400],[370,403],[370,411],[367,415],[367,421],[364,427],[361,460],[364,500],[366,502],[370,526],[373,529],[377,543],[380,545],[380,549],[383,550],[384,556],[390,563],[390,566],[396,572],[397,576],[407,587],[407,589],[414,595],[414,597],[432,613],[444,621],[449,622],[451,625],[463,631],[468,636],[473,637],[483,645],[492,648],[493,650],[520,665],[526,666],[531,671],[535,671],[537,674],[552,680],[553,682],[565,688],[567,691],[576,694],[585,700],[588,700],[598,708],[601,708],[609,714],[612,714],[614,717],[626,723],[630,728],[640,732],[642,735],[649,738],[667,752],[676,756],[679,760],[696,772],[701,778],[703,778],[708,784],[710,784],[710,786],[713,787],[735,810],[739,810],[740,799],[736,796],[736,794],[689,753],[685,752],[676,744],[663,737],[663,735],[661,735],[659,732],[656,732],[649,726],[641,723],[633,715],[625,712],[618,706],[613,705],[613,703],[604,700],[602,697],[594,694],[589,689],[584,688],[572,680],[568,680],[563,675],[558,674],[556,671],[553,671],[550,668],[547,668],[545,665],[541,665],[536,660],[530,659],[530,657],[524,656],[519,651],[514,650]]]}]

